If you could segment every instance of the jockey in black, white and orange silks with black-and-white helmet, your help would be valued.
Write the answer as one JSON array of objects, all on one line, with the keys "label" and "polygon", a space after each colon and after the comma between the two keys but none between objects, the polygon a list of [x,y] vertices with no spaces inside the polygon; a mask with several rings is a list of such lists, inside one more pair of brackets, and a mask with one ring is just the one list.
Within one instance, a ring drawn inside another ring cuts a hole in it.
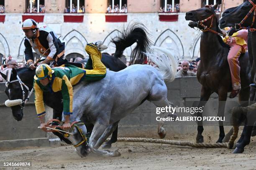
[{"label": "jockey in black, white and orange silks with black-and-white helmet", "polygon": [[65,64],[63,59],[65,42],[58,39],[58,35],[49,27],[38,27],[35,20],[27,19],[22,24],[22,30],[25,32],[25,59],[31,69],[36,67],[33,65],[34,57],[33,50],[38,55],[43,55],[44,52],[50,47],[43,57],[46,59],[41,64],[48,64],[56,62],[57,65]]}]

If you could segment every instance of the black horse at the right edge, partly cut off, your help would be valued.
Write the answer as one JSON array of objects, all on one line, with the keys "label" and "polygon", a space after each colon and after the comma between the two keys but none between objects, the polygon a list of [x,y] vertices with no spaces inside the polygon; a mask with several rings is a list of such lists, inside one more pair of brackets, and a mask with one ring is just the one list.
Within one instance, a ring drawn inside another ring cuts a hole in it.
[{"label": "black horse at the right edge, partly cut off", "polygon": [[[231,31],[229,32],[230,35],[232,35],[234,32],[240,30],[241,27],[245,28],[252,28],[251,30],[256,28],[256,24],[254,23],[254,14],[253,10],[255,10],[256,0],[246,0],[238,7],[233,7],[231,9],[228,9],[228,13],[225,13],[225,15],[222,16],[220,20],[219,27],[221,29],[225,27],[233,27]],[[254,8],[254,9],[253,9]],[[251,11],[252,13],[249,13]],[[247,17],[246,17],[247,15]],[[243,20],[245,19],[245,20]],[[243,20],[243,22],[242,22]],[[248,30],[248,53],[250,57],[251,62],[251,75],[253,82],[256,83],[256,32],[252,32]],[[250,101],[255,102],[256,101],[256,95],[255,95],[255,89],[251,88],[251,96]],[[244,115],[246,115],[246,125],[243,128],[243,133],[241,135],[241,138],[236,143],[236,149],[233,151],[233,153],[243,153],[244,147],[250,143],[251,140],[251,134],[253,128],[254,122],[256,121],[256,115],[254,112],[247,112],[241,110]],[[244,115],[240,115],[244,117]],[[255,130],[254,130],[255,131]]]}]

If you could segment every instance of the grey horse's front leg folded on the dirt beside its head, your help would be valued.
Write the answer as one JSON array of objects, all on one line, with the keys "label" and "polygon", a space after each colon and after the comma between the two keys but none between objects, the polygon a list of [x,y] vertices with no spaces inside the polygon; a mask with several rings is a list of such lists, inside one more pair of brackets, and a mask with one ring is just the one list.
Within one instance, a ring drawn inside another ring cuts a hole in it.
[{"label": "grey horse's front leg folded on the dirt beside its head", "polygon": [[89,142],[91,152],[97,153],[102,156],[120,156],[120,153],[117,150],[111,152],[107,150],[98,150],[98,148],[100,148],[100,145],[104,143],[108,136],[115,130],[117,125],[118,122],[115,122],[111,125],[103,125],[98,122],[95,124]]}]

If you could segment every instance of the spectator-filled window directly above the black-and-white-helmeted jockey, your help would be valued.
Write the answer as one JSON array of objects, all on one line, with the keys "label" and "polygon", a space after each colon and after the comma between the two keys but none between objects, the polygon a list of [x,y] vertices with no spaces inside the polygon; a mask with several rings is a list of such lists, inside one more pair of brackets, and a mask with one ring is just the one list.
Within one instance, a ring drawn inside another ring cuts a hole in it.
[{"label": "spectator-filled window directly above the black-and-white-helmeted jockey", "polygon": [[44,0],[26,0],[26,13],[44,13]]}]

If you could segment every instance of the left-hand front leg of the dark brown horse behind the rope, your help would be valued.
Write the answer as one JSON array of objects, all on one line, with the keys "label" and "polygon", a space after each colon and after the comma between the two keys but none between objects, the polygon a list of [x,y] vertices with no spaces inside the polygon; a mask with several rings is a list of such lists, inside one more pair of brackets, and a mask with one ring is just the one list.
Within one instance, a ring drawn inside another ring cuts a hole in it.
[{"label": "left-hand front leg of the dark brown horse behind the rope", "polygon": [[[199,107],[204,107],[206,102],[209,100],[210,95],[212,94],[212,91],[210,89],[207,89],[202,86],[201,88],[201,94],[200,94],[200,102],[198,104]],[[202,118],[202,112],[197,112],[197,117]],[[201,121],[197,121],[197,143],[203,143],[204,137],[202,136],[202,132],[204,131],[203,125],[202,125],[202,119]]]}]

